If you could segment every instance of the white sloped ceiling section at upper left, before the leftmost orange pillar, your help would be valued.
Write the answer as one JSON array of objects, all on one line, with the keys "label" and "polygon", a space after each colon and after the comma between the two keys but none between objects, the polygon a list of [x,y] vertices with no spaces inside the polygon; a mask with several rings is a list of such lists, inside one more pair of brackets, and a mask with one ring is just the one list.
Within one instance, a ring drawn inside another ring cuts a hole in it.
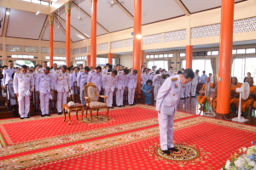
[{"label": "white sloped ceiling section at upper left, before the leftmost orange pillar", "polygon": [[45,19],[45,14],[10,9],[6,37],[38,39]]}]

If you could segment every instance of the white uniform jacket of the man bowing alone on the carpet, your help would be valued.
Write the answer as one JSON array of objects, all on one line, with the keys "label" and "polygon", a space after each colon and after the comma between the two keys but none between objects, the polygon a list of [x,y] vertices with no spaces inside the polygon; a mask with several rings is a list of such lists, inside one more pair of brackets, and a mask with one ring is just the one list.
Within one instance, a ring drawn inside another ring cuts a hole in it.
[{"label": "white uniform jacket of the man bowing alone on the carpet", "polygon": [[182,84],[179,75],[167,78],[158,92],[155,110],[160,111],[160,114],[175,114],[181,93]]}]

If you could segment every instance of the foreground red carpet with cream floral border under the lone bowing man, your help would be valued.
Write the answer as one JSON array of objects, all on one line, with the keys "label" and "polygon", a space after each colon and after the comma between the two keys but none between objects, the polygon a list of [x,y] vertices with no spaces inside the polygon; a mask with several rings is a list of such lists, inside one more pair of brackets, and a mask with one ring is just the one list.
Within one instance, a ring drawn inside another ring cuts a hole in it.
[{"label": "foreground red carpet with cream floral border under the lone bowing man", "polygon": [[[189,150],[189,161],[170,161],[160,156],[158,127],[117,133],[55,150],[0,161],[9,169],[220,169],[241,147],[256,141],[256,127],[202,116],[174,122],[175,144]],[[183,152],[175,159],[183,158]],[[189,157],[190,156],[190,157]],[[195,159],[194,159],[195,158]]]}]

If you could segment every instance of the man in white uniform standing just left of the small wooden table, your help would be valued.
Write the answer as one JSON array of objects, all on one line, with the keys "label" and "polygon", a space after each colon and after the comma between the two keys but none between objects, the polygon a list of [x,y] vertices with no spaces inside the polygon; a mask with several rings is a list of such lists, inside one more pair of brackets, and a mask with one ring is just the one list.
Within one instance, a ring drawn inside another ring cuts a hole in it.
[{"label": "man in white uniform standing just left of the small wooden table", "polygon": [[58,115],[61,115],[62,104],[67,104],[67,94],[69,93],[69,90],[71,88],[71,82],[70,82],[70,76],[67,72],[67,66],[62,65],[61,71],[57,71],[55,74],[55,77],[53,79],[53,84],[55,90],[58,92],[57,96],[57,110]]}]

